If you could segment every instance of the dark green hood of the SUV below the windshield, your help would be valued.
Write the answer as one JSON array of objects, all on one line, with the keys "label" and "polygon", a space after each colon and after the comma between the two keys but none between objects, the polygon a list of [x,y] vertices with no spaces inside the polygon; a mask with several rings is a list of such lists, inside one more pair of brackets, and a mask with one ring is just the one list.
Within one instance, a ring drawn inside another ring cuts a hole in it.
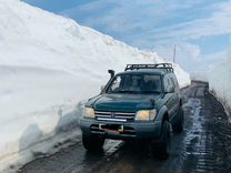
[{"label": "dark green hood of the SUV below the windshield", "polygon": [[135,112],[153,108],[159,94],[102,94],[89,101],[89,106],[98,111]]}]

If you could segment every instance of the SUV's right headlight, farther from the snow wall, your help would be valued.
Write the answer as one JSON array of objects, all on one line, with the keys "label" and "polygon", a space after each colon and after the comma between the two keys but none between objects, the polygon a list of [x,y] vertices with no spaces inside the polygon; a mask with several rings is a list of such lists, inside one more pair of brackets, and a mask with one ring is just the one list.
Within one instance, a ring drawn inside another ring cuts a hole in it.
[{"label": "SUV's right headlight, farther from the snow wall", "polygon": [[155,110],[140,110],[137,112],[137,121],[153,121],[157,115]]}]

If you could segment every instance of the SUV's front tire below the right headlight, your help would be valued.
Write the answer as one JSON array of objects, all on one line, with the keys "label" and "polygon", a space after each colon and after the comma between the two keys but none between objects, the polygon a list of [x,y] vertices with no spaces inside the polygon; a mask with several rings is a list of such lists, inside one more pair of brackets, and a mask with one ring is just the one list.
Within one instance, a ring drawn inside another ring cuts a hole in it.
[{"label": "SUV's front tire below the right headlight", "polygon": [[152,145],[153,154],[161,160],[167,160],[170,155],[170,143],[171,143],[170,141],[171,141],[170,124],[168,121],[164,121],[162,124],[160,142],[158,144]]}]

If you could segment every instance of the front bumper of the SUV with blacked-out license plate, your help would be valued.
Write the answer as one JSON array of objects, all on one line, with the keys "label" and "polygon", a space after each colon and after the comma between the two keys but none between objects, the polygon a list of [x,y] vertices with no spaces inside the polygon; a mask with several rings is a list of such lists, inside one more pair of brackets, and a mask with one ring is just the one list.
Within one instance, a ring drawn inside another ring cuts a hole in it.
[{"label": "front bumper of the SUV with blacked-out license plate", "polygon": [[[121,130],[110,130],[102,126],[120,126]],[[161,121],[153,122],[111,122],[97,121],[82,118],[80,120],[82,133],[87,136],[98,135],[114,140],[152,140],[159,139],[161,133]]]}]

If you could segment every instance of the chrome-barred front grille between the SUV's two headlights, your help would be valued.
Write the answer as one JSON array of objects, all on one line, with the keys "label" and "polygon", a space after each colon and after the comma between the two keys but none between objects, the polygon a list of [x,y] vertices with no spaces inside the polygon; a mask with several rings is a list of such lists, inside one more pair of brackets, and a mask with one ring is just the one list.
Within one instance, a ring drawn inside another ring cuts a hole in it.
[{"label": "chrome-barred front grille between the SUV's two headlights", "polygon": [[131,122],[134,120],[135,113],[127,112],[102,112],[96,111],[96,118],[99,121]]}]

